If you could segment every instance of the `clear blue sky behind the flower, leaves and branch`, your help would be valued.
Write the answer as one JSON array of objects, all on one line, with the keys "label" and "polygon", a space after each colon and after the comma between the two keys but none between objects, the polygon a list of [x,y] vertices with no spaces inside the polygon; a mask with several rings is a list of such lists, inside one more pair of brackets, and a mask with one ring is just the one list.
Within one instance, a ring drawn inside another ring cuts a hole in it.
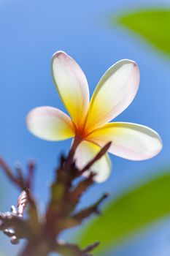
[{"label": "clear blue sky behind the flower, leaves and branch", "polygon": [[[0,154],[11,166],[20,160],[26,167],[28,159],[36,159],[35,193],[42,211],[58,156],[68,151],[70,140],[50,143],[34,138],[26,128],[25,119],[28,111],[36,106],[50,105],[64,110],[50,71],[51,56],[56,50],[65,50],[77,60],[87,75],[90,94],[109,66],[120,59],[134,59],[141,70],[139,92],[116,120],[152,127],[163,139],[163,151],[154,159],[130,162],[112,157],[112,176],[90,189],[81,206],[93,202],[105,191],[118,195],[169,164],[169,59],[133,34],[109,24],[111,14],[169,5],[169,1],[163,0],[0,0]],[[18,191],[4,176],[0,178],[1,211],[7,211],[16,202]],[[161,254],[161,249],[170,247],[167,222],[166,219],[137,236],[135,242],[121,246],[114,255],[125,255],[128,249],[131,256],[166,256],[166,252]],[[6,238],[0,236],[0,239],[7,244]],[[150,243],[154,246],[148,251]],[[6,253],[14,248],[4,247]]]}]

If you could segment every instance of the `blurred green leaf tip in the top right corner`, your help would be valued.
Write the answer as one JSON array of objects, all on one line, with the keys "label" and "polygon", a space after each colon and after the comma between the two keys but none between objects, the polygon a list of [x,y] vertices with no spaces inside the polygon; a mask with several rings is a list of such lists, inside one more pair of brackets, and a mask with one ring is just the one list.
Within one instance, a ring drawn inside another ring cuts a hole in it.
[{"label": "blurred green leaf tip in the top right corner", "polygon": [[[114,18],[115,19],[115,18]],[[120,25],[135,31],[159,50],[170,53],[170,10],[139,10],[120,15]],[[113,23],[115,21],[113,20]]]}]

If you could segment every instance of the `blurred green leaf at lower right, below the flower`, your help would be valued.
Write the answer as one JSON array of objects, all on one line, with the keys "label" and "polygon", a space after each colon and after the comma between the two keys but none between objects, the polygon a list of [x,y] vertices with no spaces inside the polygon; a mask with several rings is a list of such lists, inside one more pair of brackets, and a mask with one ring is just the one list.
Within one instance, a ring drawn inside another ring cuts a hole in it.
[{"label": "blurred green leaf at lower right, below the flower", "polygon": [[104,251],[128,238],[134,231],[170,214],[169,198],[170,173],[164,173],[113,200],[101,217],[82,230],[80,244],[86,246],[101,241],[96,252],[97,255],[104,255]]}]

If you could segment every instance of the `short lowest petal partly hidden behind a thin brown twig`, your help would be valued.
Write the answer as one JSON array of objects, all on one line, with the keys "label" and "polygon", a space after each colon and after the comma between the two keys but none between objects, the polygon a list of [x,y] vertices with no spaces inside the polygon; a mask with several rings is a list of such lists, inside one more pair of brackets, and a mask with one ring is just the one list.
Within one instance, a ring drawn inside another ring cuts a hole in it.
[{"label": "short lowest petal partly hidden behind a thin brown twig", "polygon": [[[80,169],[82,169],[82,167],[85,167],[85,165],[87,165],[88,162],[90,162],[90,160],[93,159],[93,157],[95,157],[100,150],[100,147],[88,141],[83,141],[82,143],[80,143],[80,146],[78,146],[75,154],[77,167],[79,167]],[[106,181],[109,177],[111,170],[111,162],[108,154],[105,154],[103,157],[101,157],[101,159],[99,159],[90,168],[90,170],[96,173],[95,180],[97,182]]]}]

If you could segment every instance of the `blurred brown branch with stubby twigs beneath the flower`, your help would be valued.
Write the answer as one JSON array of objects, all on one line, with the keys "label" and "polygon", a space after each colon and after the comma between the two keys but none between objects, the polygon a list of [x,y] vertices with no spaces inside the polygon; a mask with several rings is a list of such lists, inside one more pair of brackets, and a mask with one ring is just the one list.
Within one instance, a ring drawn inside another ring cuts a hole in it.
[{"label": "blurred brown branch with stubby twigs beneath the flower", "polygon": [[[90,252],[98,246],[96,243],[85,249],[80,249],[76,244],[58,242],[58,236],[63,230],[80,225],[92,214],[99,214],[98,207],[108,196],[104,194],[92,206],[75,213],[80,197],[95,182],[96,173],[90,172],[90,167],[106,154],[111,145],[111,143],[107,143],[96,154],[96,157],[88,162],[82,170],[79,170],[74,159],[74,153],[79,143],[80,138],[75,138],[69,156],[61,157],[61,164],[55,172],[55,181],[51,186],[50,203],[44,214],[45,217],[41,218],[39,218],[36,201],[31,192],[34,180],[34,162],[28,163],[28,173],[25,178],[20,165],[15,165],[15,176],[4,160],[0,159],[0,167],[9,180],[22,189],[18,197],[18,210],[12,206],[11,212],[0,214],[0,230],[11,239],[12,244],[18,244],[20,238],[26,238],[28,241],[20,256],[47,256],[54,251],[66,256],[91,256]],[[74,182],[86,170],[89,172],[88,177]],[[24,214],[26,209],[27,215]]]}]

